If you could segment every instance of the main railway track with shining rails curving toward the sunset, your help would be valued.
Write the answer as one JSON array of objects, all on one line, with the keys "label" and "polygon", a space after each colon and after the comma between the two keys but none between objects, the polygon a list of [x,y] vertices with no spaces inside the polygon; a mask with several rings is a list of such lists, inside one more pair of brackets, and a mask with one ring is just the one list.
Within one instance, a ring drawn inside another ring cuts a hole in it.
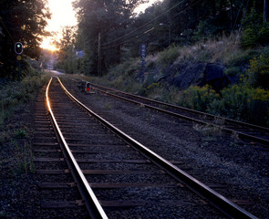
[{"label": "main railway track with shining rails curving toward the sunset", "polygon": [[[78,103],[56,78],[47,86],[47,105],[58,152],[65,155],[36,162],[66,161],[67,169],[39,173],[72,172],[83,200],[77,203],[92,218],[255,218]],[[70,182],[39,186],[66,188]]]}]

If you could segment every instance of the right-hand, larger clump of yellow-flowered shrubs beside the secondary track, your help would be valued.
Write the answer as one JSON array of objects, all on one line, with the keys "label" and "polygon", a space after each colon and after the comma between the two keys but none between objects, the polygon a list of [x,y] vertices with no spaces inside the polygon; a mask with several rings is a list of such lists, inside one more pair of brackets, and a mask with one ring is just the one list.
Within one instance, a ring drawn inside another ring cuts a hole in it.
[{"label": "right-hand, larger clump of yellow-flowered shrubs beside the secondary track", "polygon": [[253,89],[246,85],[233,85],[222,89],[222,99],[214,99],[209,104],[209,113],[243,120],[259,125],[269,125],[269,92]]}]

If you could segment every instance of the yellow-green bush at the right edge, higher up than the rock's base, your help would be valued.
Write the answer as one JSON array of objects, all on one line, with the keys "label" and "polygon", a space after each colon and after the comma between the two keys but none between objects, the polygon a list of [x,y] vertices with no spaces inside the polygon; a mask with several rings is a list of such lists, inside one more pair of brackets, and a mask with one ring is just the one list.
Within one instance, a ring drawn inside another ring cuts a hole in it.
[{"label": "yellow-green bush at the right edge, higher up than the rock's base", "polygon": [[249,82],[253,87],[269,89],[269,47],[259,57],[250,60]]}]

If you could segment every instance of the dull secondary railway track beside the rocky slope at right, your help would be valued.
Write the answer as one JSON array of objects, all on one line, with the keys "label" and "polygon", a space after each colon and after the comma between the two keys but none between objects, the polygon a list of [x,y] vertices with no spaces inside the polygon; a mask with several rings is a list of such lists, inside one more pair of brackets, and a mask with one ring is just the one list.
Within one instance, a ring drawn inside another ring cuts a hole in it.
[{"label": "dull secondary railway track beside the rocky slope at right", "polygon": [[177,117],[183,120],[190,120],[207,126],[217,126],[223,131],[237,135],[239,138],[261,143],[266,148],[269,147],[268,128],[241,122],[238,120],[231,120],[228,118],[215,116],[197,110],[183,108],[169,103],[160,102],[154,99],[143,98],[138,95],[123,92],[118,89],[110,89],[91,82],[90,84],[93,89],[96,89],[97,91],[107,94],[111,97],[123,99],[125,101],[138,104],[151,110],[158,110],[160,112],[169,114],[173,117]]}]

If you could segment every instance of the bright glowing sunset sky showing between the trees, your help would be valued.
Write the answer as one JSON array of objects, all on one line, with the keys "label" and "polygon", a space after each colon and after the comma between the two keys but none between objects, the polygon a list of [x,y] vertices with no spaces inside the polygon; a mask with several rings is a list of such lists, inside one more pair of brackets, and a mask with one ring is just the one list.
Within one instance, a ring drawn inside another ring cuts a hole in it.
[{"label": "bright glowing sunset sky showing between the trees", "polygon": [[[64,26],[76,26],[78,24],[75,11],[72,7],[72,2],[74,1],[75,0],[47,0],[52,15],[51,19],[47,20],[46,30],[48,32],[58,32],[58,34],[44,38],[41,47],[52,51],[57,50],[57,47],[53,45],[53,41],[60,37]],[[149,3],[140,5],[135,12],[140,13],[140,11],[144,11],[147,7],[158,1],[159,0],[150,0]]]}]

